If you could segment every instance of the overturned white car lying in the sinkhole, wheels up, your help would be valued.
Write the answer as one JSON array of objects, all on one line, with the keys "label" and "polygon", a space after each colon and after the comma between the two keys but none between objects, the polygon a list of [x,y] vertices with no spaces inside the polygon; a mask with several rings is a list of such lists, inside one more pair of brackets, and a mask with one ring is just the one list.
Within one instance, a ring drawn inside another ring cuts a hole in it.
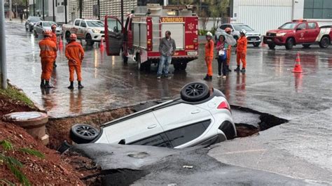
[{"label": "overturned white car lying in the sinkhole, wheels up", "polygon": [[181,98],[106,122],[100,131],[75,124],[75,143],[113,143],[187,148],[235,138],[236,130],[226,97],[205,83],[188,83]]}]

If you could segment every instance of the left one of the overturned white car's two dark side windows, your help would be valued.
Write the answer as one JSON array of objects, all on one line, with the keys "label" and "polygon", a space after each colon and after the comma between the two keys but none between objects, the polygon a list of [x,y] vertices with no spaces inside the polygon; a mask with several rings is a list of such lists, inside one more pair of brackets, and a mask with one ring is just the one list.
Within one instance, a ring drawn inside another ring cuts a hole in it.
[{"label": "left one of the overturned white car's two dark side windows", "polygon": [[172,148],[172,145],[169,141],[167,141],[165,134],[157,134],[155,136],[150,136],[148,138],[135,141],[134,143],[130,143],[130,145],[149,145],[156,147]]}]

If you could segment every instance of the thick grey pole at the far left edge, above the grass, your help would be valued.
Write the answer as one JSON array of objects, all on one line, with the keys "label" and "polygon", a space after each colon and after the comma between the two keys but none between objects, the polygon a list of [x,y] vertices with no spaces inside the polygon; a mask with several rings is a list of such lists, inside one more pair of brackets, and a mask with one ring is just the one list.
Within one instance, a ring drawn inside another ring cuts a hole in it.
[{"label": "thick grey pole at the far left edge, above the grass", "polygon": [[6,33],[5,33],[5,7],[4,1],[0,1],[0,86],[7,89],[7,67],[6,67]]}]

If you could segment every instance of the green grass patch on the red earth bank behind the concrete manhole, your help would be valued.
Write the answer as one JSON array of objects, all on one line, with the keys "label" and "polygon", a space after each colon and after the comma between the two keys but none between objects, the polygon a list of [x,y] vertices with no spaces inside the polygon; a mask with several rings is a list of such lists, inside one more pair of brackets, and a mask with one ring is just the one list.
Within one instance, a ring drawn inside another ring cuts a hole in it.
[{"label": "green grass patch on the red earth bank behind the concrete manhole", "polygon": [[12,85],[8,85],[6,90],[0,89],[0,95],[12,99],[13,102],[20,101],[31,108],[35,108],[34,103],[23,92],[20,92]]}]

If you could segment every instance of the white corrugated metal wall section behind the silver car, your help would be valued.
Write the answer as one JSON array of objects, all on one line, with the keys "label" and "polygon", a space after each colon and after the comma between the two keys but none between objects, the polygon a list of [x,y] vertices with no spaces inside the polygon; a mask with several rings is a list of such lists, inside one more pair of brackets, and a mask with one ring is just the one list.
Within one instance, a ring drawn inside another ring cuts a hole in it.
[{"label": "white corrugated metal wall section behind the silver car", "polygon": [[270,29],[291,21],[291,0],[238,0],[238,12],[235,22],[248,24],[265,35]]}]

